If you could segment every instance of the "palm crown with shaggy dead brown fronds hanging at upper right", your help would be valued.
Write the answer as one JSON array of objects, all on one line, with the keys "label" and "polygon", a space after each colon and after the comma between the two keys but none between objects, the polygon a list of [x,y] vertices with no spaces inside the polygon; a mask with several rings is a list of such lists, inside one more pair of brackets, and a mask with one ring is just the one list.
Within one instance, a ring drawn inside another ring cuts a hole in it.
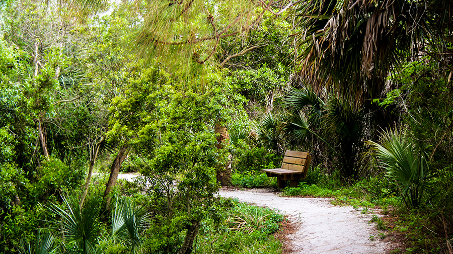
[{"label": "palm crown with shaggy dead brown fronds hanging at upper right", "polygon": [[296,34],[304,50],[301,78],[316,92],[327,86],[358,104],[380,98],[391,68],[427,52],[425,45],[440,53],[431,54],[442,63],[445,41],[451,40],[452,5],[447,0],[300,2],[293,14],[301,24]]}]

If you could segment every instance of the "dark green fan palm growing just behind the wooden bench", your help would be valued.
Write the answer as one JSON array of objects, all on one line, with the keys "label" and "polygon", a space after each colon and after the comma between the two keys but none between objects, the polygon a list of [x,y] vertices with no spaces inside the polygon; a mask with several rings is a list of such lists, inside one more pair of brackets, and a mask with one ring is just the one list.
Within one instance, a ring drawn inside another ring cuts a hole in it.
[{"label": "dark green fan palm growing just behind the wooden bench", "polygon": [[333,93],[324,93],[324,100],[311,89],[293,89],[284,105],[290,112],[285,124],[286,137],[295,145],[309,144],[317,156],[328,156],[342,175],[356,178],[358,157],[363,149],[366,109]]}]

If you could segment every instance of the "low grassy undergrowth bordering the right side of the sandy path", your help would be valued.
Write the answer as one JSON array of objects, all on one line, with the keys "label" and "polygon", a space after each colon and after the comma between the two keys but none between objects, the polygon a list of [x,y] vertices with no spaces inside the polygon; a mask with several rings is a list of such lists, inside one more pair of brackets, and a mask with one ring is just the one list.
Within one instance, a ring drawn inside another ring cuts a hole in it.
[{"label": "low grassy undergrowth bordering the right side of the sandy path", "polygon": [[[332,198],[335,205],[351,205],[361,209],[380,208],[385,217],[373,216],[371,222],[384,233],[379,238],[404,239],[401,249],[395,253],[453,253],[453,176],[446,174],[432,188],[435,198],[427,205],[408,208],[398,196],[397,187],[384,176],[367,178],[352,185],[338,186],[327,184],[325,179],[317,184],[300,183],[296,188],[287,187],[283,196],[305,196]],[[335,180],[333,180],[335,182]]]}]

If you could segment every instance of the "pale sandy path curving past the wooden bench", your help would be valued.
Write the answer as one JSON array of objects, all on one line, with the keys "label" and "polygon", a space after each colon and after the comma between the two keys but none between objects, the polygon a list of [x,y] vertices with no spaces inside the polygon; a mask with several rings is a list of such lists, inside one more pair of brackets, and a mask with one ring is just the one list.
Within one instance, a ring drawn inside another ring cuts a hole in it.
[{"label": "pale sandy path curving past the wooden bench", "polygon": [[[386,253],[388,242],[379,240],[371,212],[362,214],[351,206],[334,206],[326,198],[279,197],[269,189],[219,191],[222,197],[237,198],[257,206],[279,210],[296,224],[288,235],[293,253]],[[373,235],[375,240],[370,240]]]}]

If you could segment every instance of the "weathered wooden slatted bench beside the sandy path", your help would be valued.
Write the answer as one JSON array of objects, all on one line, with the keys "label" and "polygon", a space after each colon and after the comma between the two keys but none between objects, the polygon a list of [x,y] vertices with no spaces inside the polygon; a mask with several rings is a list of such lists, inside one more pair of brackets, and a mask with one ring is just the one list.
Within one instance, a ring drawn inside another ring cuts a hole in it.
[{"label": "weathered wooden slatted bench beside the sandy path", "polygon": [[308,152],[287,150],[280,168],[272,168],[263,171],[266,172],[267,177],[277,178],[277,187],[279,189],[285,187],[285,181],[287,180],[290,181],[290,187],[297,187],[298,180],[307,177],[311,160],[312,156],[310,156]]}]

